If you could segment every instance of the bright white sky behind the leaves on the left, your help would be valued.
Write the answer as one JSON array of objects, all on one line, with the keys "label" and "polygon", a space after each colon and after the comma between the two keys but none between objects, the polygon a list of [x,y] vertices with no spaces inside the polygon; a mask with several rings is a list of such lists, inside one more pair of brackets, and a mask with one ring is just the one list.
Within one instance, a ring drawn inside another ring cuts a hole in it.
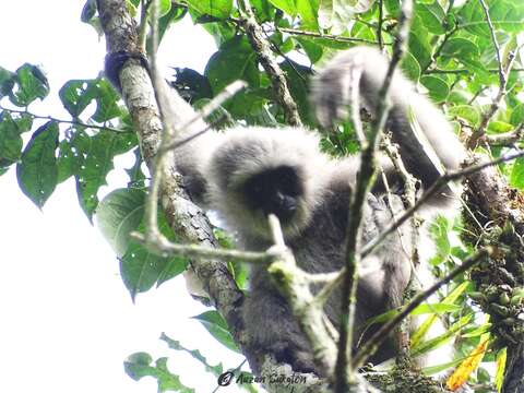
[{"label": "bright white sky behind the leaves on the left", "polygon": [[[50,97],[29,106],[35,114],[68,119],[58,90],[70,79],[95,78],[102,68],[105,46],[80,22],[83,3],[0,4],[0,66],[14,71],[24,62],[41,64],[49,78]],[[202,72],[213,40],[188,21],[180,25],[182,33],[166,37],[160,62]],[[115,170],[105,192],[126,181],[123,171]],[[72,181],[40,212],[20,191],[13,167],[0,177],[0,392],[153,393],[153,379],[135,382],[123,372],[126,357],[141,350],[155,359],[168,356],[182,382],[212,392],[215,379],[188,355],[169,350],[158,341],[162,332],[202,349],[212,364],[241,361],[190,319],[204,308],[180,278],[131,302],[118,261],[81,211]]]}]

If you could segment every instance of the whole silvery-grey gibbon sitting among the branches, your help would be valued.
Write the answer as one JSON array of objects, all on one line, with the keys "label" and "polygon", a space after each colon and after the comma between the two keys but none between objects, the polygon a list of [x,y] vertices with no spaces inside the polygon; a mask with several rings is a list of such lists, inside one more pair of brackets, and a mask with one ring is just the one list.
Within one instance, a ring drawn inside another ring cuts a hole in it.
[{"label": "whole silvery-grey gibbon sitting among the branches", "polygon": [[[388,67],[388,59],[370,47],[355,47],[335,56],[313,81],[312,105],[320,122],[331,124],[344,116],[350,104],[350,79],[357,68],[361,72],[362,105],[373,115]],[[415,91],[401,71],[392,79],[390,94],[391,110],[385,128],[398,144],[406,168],[427,189],[443,169],[460,167],[463,147],[442,114]],[[169,111],[178,126],[194,116],[177,94],[172,96]],[[205,127],[203,121],[198,121],[183,130],[180,138]],[[290,127],[207,132],[175,150],[174,155],[194,201],[217,212],[243,249],[263,251],[272,246],[267,215],[273,213],[279,218],[286,245],[301,269],[317,273],[335,272],[344,266],[348,201],[359,168],[358,156],[330,157],[320,151],[315,133]],[[439,167],[437,160],[443,167]],[[403,211],[403,183],[389,162],[380,162],[390,191],[386,192],[383,177],[378,176],[364,206],[362,245],[380,234],[392,222],[393,214]],[[444,188],[422,213],[446,213],[455,206],[456,198],[450,188]],[[424,253],[428,248],[428,235],[424,231],[421,241],[419,250]],[[373,333],[373,327],[364,331],[365,321],[401,305],[410,277],[410,255],[407,224],[361,261],[354,343]],[[420,274],[420,279],[431,278]],[[340,293],[335,291],[325,306],[335,326],[340,300]],[[296,371],[315,370],[311,346],[265,266],[252,266],[243,317],[257,348],[264,348]],[[370,361],[378,364],[394,356],[395,345],[390,340]]]}]

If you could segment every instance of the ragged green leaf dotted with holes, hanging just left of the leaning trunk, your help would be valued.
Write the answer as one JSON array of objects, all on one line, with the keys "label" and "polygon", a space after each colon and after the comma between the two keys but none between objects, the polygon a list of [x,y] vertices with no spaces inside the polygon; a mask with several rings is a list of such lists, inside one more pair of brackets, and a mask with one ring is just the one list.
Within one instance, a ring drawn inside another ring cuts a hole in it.
[{"label": "ragged green leaf dotted with holes, hanging just left of the leaning trunk", "polygon": [[72,144],[84,157],[75,174],[76,193],[82,210],[91,221],[98,205],[98,189],[106,184],[106,176],[114,168],[114,157],[135,146],[136,136],[108,130],[102,130],[95,136],[82,132]]}]

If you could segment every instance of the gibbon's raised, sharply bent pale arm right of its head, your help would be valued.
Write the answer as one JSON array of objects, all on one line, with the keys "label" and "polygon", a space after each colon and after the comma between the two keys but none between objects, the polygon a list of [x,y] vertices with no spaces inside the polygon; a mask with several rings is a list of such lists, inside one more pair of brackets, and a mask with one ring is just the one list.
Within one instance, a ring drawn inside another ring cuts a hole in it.
[{"label": "gibbon's raised, sharply bent pale arm right of its head", "polygon": [[[364,106],[376,115],[379,91],[388,72],[389,61],[371,47],[355,47],[337,55],[321,71],[313,83],[313,105],[319,121],[331,126],[346,117],[350,104],[352,69],[361,73],[359,93]],[[393,75],[390,87],[391,109],[386,129],[401,148],[401,156],[410,174],[427,189],[445,170],[458,169],[465,150],[453,134],[450,124],[415,85],[400,71]],[[450,189],[442,191],[432,202],[444,202]]]}]

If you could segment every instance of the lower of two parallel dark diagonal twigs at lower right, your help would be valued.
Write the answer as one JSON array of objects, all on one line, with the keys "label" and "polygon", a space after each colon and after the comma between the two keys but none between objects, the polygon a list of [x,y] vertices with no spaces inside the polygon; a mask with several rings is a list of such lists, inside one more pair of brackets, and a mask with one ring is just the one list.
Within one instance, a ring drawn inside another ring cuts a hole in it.
[{"label": "lower of two parallel dark diagonal twigs at lower right", "polygon": [[389,336],[389,334],[393,331],[393,329],[403,321],[413,310],[415,310],[422,301],[428,299],[432,294],[434,294],[439,288],[443,285],[450,283],[454,277],[457,275],[466,272],[476,263],[478,263],[483,258],[492,253],[490,247],[483,248],[478,250],[472,257],[468,257],[464,262],[451,271],[445,277],[438,281],[433,285],[431,285],[428,289],[419,293],[416,295],[413,300],[404,306],[402,310],[390,321],[384,323],[367,342],[364,344],[360,349],[358,350],[357,355],[354,358],[352,364],[353,368],[358,369],[361,367],[370,356],[372,356],[377,349],[379,348],[380,344],[383,343],[384,340]]}]

